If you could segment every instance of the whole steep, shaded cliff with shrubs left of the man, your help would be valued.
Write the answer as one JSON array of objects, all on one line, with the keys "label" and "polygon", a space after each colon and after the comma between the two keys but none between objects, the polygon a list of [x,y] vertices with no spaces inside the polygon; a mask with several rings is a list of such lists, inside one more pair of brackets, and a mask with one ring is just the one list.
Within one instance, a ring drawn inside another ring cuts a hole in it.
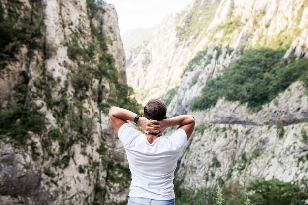
[{"label": "whole steep, shaded cliff with shrubs left of the man", "polygon": [[0,204],[125,201],[130,174],[107,117],[131,90],[114,7],[1,0],[0,10]]}]

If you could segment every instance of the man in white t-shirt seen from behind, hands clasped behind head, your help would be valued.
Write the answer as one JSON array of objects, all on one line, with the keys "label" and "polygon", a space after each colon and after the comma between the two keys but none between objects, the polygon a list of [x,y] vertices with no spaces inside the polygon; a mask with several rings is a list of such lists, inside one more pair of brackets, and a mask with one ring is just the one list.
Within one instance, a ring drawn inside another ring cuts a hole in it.
[{"label": "man in white t-shirt seen from behind, hands clasped behind head", "polygon": [[[175,205],[174,171],[194,130],[195,120],[192,115],[167,119],[166,111],[165,104],[158,99],[147,103],[142,116],[119,107],[109,110],[131,171],[127,205]],[[127,120],[139,124],[144,133],[134,129]],[[170,135],[162,135],[172,126],[179,127]]]}]

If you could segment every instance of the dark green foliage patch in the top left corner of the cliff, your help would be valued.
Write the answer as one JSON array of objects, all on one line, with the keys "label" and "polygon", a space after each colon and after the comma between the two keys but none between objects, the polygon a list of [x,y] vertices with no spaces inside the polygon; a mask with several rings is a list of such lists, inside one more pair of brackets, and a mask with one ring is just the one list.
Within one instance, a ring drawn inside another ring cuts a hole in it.
[{"label": "dark green foliage patch in the top left corner of the cliff", "polygon": [[[35,49],[44,47],[43,41],[37,41],[44,29],[43,3],[30,0],[30,4],[33,9],[29,10],[18,0],[6,2],[5,7],[0,2],[0,69],[16,60],[15,54],[23,46],[28,49],[28,58],[33,56]],[[20,16],[21,12],[26,12],[26,15]]]}]

